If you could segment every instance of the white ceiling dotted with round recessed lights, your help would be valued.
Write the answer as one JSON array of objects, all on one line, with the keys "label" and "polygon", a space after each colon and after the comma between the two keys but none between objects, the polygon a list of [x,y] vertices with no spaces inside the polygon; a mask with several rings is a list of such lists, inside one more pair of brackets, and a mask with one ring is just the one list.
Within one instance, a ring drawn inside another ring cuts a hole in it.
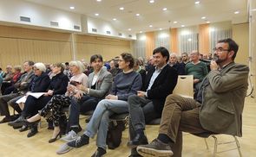
[{"label": "white ceiling dotted with round recessed lights", "polygon": [[[24,0],[56,9],[96,17],[111,22],[115,28],[132,33],[153,31],[159,28],[180,28],[209,22],[247,22],[247,0]],[[74,6],[75,9],[69,9]],[[124,7],[124,10],[120,10]],[[163,11],[163,8],[167,8]],[[234,14],[234,11],[240,14]],[[99,16],[95,16],[98,13]],[[135,14],[140,16],[135,16]],[[201,17],[207,19],[202,20]],[[116,18],[116,21],[113,21]],[[178,23],[174,23],[174,21]],[[153,25],[149,28],[149,25]]]}]

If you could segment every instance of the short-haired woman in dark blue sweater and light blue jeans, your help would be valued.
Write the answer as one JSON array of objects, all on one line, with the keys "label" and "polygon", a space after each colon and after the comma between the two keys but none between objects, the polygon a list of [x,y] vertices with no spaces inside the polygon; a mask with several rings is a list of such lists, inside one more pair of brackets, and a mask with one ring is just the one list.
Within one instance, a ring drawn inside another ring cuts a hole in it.
[{"label": "short-haired woman in dark blue sweater and light blue jeans", "polygon": [[76,140],[62,145],[57,154],[64,154],[71,148],[80,148],[89,144],[89,138],[93,138],[96,134],[98,148],[93,156],[106,154],[109,116],[114,113],[128,112],[128,97],[141,90],[141,75],[138,72],[134,72],[134,64],[134,57],[130,53],[121,53],[119,68],[122,72],[115,76],[111,93],[97,104],[85,132]]}]

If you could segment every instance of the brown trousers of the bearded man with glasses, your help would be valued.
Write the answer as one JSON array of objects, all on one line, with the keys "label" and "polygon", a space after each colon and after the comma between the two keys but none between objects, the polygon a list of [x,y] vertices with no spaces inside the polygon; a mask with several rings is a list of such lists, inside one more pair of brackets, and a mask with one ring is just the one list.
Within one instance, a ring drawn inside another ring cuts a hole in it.
[{"label": "brown trousers of the bearded man with glasses", "polygon": [[181,156],[182,131],[191,134],[212,133],[203,129],[199,118],[200,103],[193,98],[169,95],[161,115],[159,134],[167,135],[174,144],[174,156]]}]

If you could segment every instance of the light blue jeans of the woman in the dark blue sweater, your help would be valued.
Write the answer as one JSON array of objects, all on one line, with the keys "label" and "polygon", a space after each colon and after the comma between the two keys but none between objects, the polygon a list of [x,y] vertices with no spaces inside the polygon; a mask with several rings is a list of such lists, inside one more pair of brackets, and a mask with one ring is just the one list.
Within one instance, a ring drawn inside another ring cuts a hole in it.
[{"label": "light blue jeans of the woman in the dark blue sweater", "polygon": [[106,140],[108,134],[109,116],[114,113],[128,112],[128,102],[122,100],[104,99],[97,105],[92,118],[87,125],[84,134],[94,138],[97,134],[96,145],[99,148],[107,148]]}]

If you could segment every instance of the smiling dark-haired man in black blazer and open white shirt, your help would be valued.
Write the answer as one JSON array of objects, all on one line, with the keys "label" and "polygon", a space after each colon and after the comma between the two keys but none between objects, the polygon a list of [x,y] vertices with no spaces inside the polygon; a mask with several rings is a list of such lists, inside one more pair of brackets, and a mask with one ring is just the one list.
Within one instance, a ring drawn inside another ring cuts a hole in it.
[{"label": "smiling dark-haired man in black blazer and open white shirt", "polygon": [[148,70],[142,91],[128,97],[129,135],[128,147],[131,156],[137,155],[136,147],[148,144],[144,135],[145,123],[161,117],[167,95],[171,94],[177,84],[177,71],[167,64],[169,52],[165,47],[154,49],[154,66]]}]

